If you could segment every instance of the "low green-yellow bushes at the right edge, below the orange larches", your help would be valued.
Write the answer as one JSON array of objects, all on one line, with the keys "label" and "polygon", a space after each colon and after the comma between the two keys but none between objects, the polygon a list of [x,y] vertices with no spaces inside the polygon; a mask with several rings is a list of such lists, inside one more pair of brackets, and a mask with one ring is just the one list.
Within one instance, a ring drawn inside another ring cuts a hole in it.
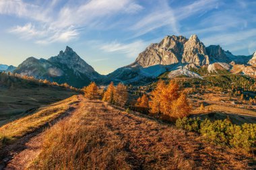
[{"label": "low green-yellow bushes at the right edge, below the orange larches", "polygon": [[176,121],[177,128],[197,132],[208,142],[243,148],[245,151],[255,151],[256,146],[256,124],[243,124],[241,126],[232,124],[230,120],[216,120],[214,122],[199,118],[183,118]]}]

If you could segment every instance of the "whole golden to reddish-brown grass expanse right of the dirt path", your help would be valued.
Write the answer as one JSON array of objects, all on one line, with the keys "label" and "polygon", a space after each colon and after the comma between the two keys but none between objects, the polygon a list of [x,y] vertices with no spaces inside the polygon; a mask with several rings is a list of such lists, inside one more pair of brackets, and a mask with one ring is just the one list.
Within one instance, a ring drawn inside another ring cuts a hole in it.
[{"label": "whole golden to reddish-brown grass expanse right of the dirt path", "polygon": [[201,142],[194,133],[102,101],[82,105],[46,130],[27,169],[253,169],[251,155]]}]

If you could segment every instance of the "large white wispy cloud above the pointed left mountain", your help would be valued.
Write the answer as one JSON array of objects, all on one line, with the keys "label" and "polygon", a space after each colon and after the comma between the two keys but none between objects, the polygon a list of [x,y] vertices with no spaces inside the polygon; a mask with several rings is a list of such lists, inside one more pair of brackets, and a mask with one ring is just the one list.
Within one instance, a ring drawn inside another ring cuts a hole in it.
[{"label": "large white wispy cloud above the pointed left mountain", "polygon": [[73,40],[79,37],[80,28],[96,28],[97,24],[104,23],[108,17],[117,13],[137,13],[143,9],[134,0],[94,0],[76,5],[66,3],[56,9],[58,3],[58,0],[54,0],[39,6],[22,0],[2,0],[0,14],[32,19],[30,23],[14,26],[8,32],[25,39],[34,38],[39,44],[49,44]]}]

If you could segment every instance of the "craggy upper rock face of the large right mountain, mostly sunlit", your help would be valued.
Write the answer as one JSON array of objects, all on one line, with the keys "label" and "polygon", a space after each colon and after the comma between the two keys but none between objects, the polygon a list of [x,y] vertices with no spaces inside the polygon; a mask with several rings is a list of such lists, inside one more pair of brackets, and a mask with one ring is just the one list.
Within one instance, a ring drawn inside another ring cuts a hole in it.
[{"label": "craggy upper rock face of the large right mountain, mostly sunlit", "polygon": [[214,62],[230,62],[220,46],[208,46],[196,35],[189,39],[184,36],[166,36],[160,43],[150,44],[129,67],[150,67],[175,63],[209,65]]}]

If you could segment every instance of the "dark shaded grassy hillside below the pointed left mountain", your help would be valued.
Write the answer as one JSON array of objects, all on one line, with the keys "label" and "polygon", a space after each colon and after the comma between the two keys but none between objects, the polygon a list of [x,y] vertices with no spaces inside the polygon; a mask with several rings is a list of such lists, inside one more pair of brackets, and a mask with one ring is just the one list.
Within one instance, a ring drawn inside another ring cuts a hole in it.
[{"label": "dark shaded grassy hillside below the pointed left mountain", "polygon": [[70,89],[0,73],[0,126],[76,94]]}]

